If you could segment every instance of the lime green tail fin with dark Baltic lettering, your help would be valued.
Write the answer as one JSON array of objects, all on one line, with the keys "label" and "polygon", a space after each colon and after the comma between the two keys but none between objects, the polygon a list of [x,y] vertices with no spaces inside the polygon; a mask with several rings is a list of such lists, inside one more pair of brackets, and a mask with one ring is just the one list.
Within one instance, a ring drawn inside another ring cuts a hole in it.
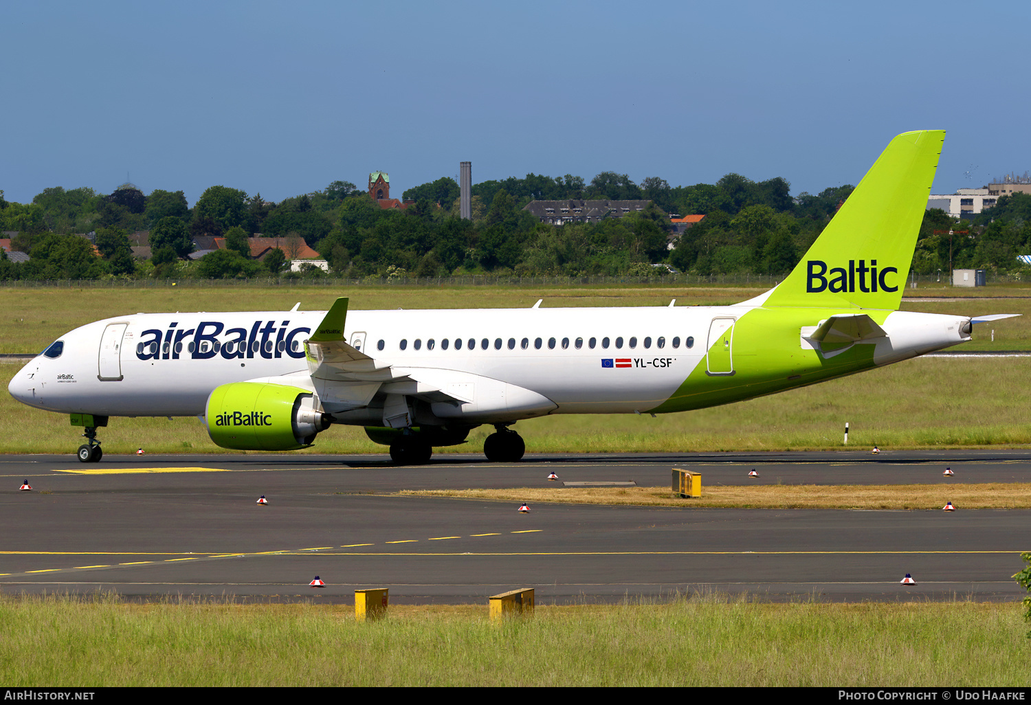
[{"label": "lime green tail fin with dark Baltic lettering", "polygon": [[898,309],[944,130],[891,141],[766,306]]}]

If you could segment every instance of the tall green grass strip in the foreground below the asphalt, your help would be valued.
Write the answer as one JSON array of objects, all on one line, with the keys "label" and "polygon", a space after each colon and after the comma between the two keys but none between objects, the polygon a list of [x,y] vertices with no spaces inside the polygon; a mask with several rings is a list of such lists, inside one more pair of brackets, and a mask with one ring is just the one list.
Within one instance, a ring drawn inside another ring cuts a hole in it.
[{"label": "tall green grass strip in the foreground below the asphalt", "polygon": [[123,604],[2,597],[0,681],[27,685],[1031,684],[1018,604],[487,606]]}]

